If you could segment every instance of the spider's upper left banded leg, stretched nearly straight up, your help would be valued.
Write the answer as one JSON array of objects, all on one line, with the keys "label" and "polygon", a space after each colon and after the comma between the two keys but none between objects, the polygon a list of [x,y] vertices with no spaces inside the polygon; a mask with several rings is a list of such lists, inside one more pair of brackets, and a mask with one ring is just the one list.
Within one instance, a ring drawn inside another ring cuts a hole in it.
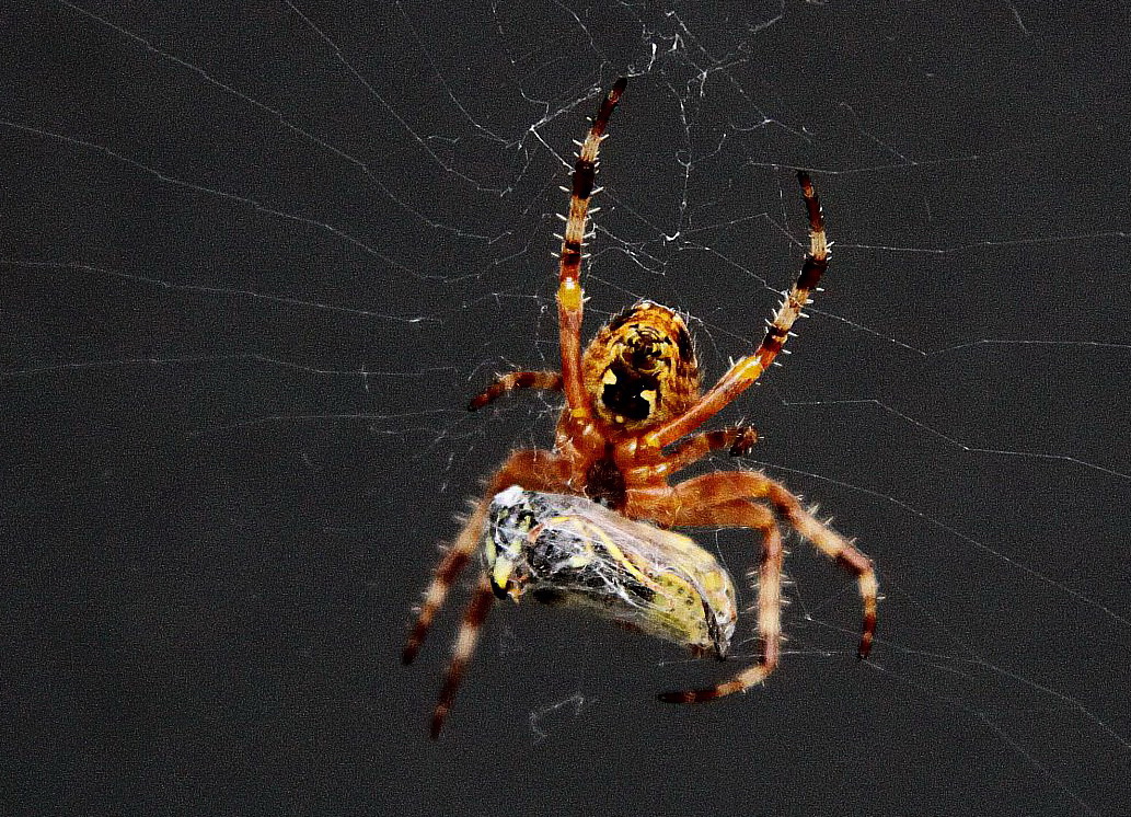
[{"label": "spider's upper left banded leg, stretched nearly straight up", "polygon": [[569,215],[562,234],[562,249],[558,270],[558,322],[561,328],[562,385],[566,401],[573,415],[587,419],[590,413],[588,396],[581,379],[581,246],[585,242],[589,199],[593,197],[597,175],[597,152],[604,139],[608,118],[624,92],[628,80],[621,77],[601,103],[589,135],[581,143],[573,165],[569,199]]}]

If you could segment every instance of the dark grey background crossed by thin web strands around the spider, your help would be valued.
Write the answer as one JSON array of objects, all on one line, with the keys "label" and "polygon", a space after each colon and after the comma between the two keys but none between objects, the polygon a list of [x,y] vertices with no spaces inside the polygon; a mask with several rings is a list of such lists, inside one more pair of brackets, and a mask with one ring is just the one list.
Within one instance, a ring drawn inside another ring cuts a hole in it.
[{"label": "dark grey background crossed by thin web strands around the spider", "polygon": [[[1126,814],[1128,19],[950,6],[8,5],[3,811]],[[881,637],[796,542],[780,671],[709,706],[653,694],[737,663],[497,611],[431,743],[456,613],[406,670],[409,608],[554,403],[460,406],[555,366],[620,74],[587,332],[679,306],[717,377],[813,169],[828,292],[726,418],[874,558]]]}]

